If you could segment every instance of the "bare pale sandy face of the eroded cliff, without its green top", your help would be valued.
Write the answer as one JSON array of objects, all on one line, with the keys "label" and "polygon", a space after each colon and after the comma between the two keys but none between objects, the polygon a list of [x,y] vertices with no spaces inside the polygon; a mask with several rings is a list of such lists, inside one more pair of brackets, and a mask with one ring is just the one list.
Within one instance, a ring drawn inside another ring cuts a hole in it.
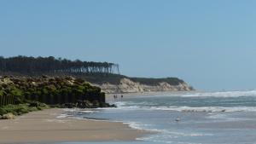
[{"label": "bare pale sandy face of the eroded cliff, without its green top", "polygon": [[120,84],[93,84],[102,89],[105,93],[138,93],[138,92],[156,92],[156,91],[189,91],[193,90],[188,84],[170,85],[161,82],[157,85],[146,85],[131,81],[128,78],[122,78]]}]

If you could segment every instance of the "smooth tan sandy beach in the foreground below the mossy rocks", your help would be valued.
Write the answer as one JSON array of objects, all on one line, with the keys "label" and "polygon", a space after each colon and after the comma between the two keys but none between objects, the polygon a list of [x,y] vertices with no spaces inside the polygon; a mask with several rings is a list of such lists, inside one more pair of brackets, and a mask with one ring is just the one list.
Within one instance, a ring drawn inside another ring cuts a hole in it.
[{"label": "smooth tan sandy beach in the foreground below the mossy rocks", "polygon": [[55,108],[0,120],[0,143],[134,141],[146,134],[117,122],[60,118],[62,113],[63,109]]}]

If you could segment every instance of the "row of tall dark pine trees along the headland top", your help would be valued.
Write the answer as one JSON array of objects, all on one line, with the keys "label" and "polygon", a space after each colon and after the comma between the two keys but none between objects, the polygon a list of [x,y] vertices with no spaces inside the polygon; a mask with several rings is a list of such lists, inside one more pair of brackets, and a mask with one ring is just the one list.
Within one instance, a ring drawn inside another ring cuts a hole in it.
[{"label": "row of tall dark pine trees along the headland top", "polygon": [[0,57],[2,72],[65,72],[65,73],[118,73],[119,65],[108,62],[93,62],[81,60],[55,59],[49,57],[16,56]]}]

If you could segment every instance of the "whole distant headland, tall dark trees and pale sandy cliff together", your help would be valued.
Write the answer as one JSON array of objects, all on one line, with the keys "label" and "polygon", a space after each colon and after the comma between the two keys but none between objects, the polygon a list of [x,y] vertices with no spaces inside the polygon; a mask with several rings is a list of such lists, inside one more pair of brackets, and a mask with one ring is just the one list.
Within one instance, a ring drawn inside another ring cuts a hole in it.
[{"label": "whole distant headland, tall dark trees and pale sandy cliff together", "polygon": [[121,75],[119,65],[110,62],[67,60],[49,57],[0,57],[0,75],[35,78],[73,77],[98,86],[105,93],[189,91],[193,87],[179,78],[130,78]]}]

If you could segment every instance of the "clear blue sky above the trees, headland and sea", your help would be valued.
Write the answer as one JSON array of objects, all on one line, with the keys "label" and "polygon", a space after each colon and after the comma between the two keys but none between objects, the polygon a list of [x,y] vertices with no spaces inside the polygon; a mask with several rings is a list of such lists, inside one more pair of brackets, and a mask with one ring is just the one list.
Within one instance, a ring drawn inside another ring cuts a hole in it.
[{"label": "clear blue sky above the trees, headland and sea", "polygon": [[0,55],[111,61],[196,89],[256,88],[256,1],[1,0]]}]

